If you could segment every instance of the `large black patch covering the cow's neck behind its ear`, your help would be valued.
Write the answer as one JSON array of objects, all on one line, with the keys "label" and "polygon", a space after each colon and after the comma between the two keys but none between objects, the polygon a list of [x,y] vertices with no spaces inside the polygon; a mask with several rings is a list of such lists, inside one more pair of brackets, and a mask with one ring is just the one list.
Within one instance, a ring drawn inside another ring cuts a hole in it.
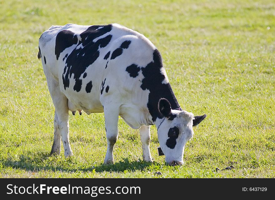
[{"label": "large black patch covering the cow's neck behind its ear", "polygon": [[173,110],[180,108],[170,83],[162,83],[165,79],[164,75],[160,71],[162,67],[162,58],[159,51],[156,49],[153,52],[153,62],[150,62],[146,67],[141,68],[144,78],[142,79],[142,84],[140,87],[143,90],[148,89],[150,91],[147,107],[153,121],[156,121],[157,117],[163,117],[158,110],[158,101],[161,98],[166,98],[170,102]]}]

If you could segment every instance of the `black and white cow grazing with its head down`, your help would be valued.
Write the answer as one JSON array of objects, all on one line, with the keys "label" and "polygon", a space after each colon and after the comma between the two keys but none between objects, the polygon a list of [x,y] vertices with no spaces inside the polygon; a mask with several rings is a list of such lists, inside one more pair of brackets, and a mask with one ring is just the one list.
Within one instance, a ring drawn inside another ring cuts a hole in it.
[{"label": "black and white cow grazing with its head down", "polygon": [[142,34],[118,24],[52,26],[39,39],[47,85],[55,107],[51,153],[73,155],[69,142],[68,111],[104,112],[107,136],[105,164],[114,163],[118,116],[139,129],[143,159],[152,161],[150,126],[170,165],[183,163],[194,117],[182,110],[168,81],[159,51]]}]

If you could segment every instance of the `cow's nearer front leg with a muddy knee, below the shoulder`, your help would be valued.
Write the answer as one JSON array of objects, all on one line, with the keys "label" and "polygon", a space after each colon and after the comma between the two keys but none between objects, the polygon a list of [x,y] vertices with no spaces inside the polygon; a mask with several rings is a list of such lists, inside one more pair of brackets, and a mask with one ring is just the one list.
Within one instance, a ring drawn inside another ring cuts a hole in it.
[{"label": "cow's nearer front leg with a muddy knee, below the shoulder", "polygon": [[113,164],[113,148],[118,140],[118,107],[104,107],[105,128],[107,137],[107,153],[104,159],[105,164]]}]

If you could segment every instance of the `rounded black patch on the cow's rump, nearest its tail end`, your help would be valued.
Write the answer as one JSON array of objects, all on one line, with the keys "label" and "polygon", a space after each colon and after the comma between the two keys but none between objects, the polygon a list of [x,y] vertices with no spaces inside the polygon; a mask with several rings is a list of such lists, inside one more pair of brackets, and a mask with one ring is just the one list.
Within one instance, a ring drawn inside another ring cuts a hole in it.
[{"label": "rounded black patch on the cow's rump, nearest its tail end", "polygon": [[56,59],[58,60],[59,55],[63,52],[66,48],[76,45],[78,42],[77,35],[74,35],[72,31],[63,30],[60,31],[55,40],[55,55]]}]

